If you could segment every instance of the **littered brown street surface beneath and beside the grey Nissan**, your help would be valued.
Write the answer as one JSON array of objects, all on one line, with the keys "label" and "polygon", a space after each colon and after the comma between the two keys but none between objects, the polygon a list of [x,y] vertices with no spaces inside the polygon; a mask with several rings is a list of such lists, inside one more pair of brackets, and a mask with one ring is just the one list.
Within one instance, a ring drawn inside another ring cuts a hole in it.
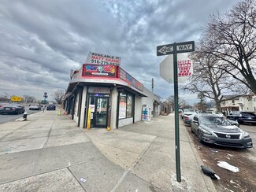
[{"label": "littered brown street surface beneath and beside the grey Nissan", "polygon": [[[254,146],[250,149],[200,143],[196,135],[191,133],[191,127],[186,126],[186,128],[204,164],[221,177],[220,180],[213,181],[217,191],[254,191],[256,188],[256,167],[254,166],[256,164],[256,126],[240,124],[240,128],[247,131],[253,140]],[[218,161],[224,161],[239,168],[239,172],[220,168],[217,165]]]}]

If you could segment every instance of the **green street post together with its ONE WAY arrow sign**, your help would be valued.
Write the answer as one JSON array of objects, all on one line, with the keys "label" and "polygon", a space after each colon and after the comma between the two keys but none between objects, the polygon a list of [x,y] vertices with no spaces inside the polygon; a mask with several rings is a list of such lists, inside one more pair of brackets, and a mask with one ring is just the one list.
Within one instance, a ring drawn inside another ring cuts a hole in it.
[{"label": "green street post together with its ONE WAY arrow sign", "polygon": [[175,150],[176,150],[176,179],[181,182],[180,175],[180,127],[179,127],[179,91],[178,91],[178,64],[177,54],[192,52],[195,42],[174,42],[173,44],[157,46],[157,56],[173,54],[173,81],[174,81],[174,119],[175,119]]}]

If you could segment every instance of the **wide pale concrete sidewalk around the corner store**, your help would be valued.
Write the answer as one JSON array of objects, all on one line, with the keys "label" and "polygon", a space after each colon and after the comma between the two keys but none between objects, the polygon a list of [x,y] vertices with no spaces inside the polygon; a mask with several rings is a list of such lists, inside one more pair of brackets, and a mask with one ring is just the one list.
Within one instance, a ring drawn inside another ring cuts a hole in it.
[{"label": "wide pale concrete sidewalk around the corner store", "polygon": [[216,191],[183,124],[176,182],[173,114],[87,131],[57,113],[0,124],[1,191]]}]

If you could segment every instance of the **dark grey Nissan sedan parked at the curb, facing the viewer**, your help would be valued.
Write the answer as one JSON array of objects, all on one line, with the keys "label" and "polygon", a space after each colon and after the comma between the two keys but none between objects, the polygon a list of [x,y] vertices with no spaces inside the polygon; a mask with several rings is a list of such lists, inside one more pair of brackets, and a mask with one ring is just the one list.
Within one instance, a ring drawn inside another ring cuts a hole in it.
[{"label": "dark grey Nissan sedan parked at the curb, facing the viewer", "polygon": [[199,142],[236,148],[253,146],[250,135],[236,125],[232,125],[223,116],[197,114],[192,120],[191,131],[197,135]]}]

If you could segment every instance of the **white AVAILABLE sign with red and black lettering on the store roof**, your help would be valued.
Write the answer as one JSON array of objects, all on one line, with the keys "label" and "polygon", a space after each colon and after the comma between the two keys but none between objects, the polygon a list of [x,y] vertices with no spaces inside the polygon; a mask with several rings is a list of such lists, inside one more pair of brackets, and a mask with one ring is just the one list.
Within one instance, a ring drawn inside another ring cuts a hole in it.
[{"label": "white AVAILABLE sign with red and black lettering on the store roof", "polygon": [[97,54],[90,52],[85,61],[86,64],[96,64],[96,65],[117,65],[119,66],[121,62],[121,57]]}]

